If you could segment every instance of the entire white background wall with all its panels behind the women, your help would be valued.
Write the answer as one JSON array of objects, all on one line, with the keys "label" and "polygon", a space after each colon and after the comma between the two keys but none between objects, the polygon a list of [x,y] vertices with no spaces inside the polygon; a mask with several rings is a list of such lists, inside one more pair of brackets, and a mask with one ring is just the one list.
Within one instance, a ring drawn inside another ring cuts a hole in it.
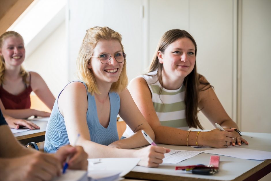
[{"label": "entire white background wall with all its panels behind the women", "polygon": [[[76,57],[86,29],[109,26],[123,35],[131,80],[146,70],[165,31],[185,29],[198,45],[198,72],[214,86],[227,113],[239,121],[242,131],[270,133],[271,1],[239,2],[242,18],[236,47],[238,6],[234,0],[69,0],[67,29],[63,22],[25,60],[25,67],[40,73],[57,96],[68,81],[75,79]],[[123,24],[117,26],[117,20]],[[204,116],[200,119],[204,128],[212,128]]]}]

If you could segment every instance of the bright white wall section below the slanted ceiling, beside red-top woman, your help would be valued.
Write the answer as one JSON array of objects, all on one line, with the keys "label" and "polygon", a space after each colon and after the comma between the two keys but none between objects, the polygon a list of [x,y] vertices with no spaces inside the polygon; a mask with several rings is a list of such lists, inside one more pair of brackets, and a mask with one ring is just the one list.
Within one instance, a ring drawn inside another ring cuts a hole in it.
[{"label": "bright white wall section below the slanted ceiling, beside red-top woman", "polygon": [[[26,50],[27,53],[27,50]],[[27,70],[39,73],[55,97],[69,82],[67,79],[67,36],[62,22],[24,61]]]}]

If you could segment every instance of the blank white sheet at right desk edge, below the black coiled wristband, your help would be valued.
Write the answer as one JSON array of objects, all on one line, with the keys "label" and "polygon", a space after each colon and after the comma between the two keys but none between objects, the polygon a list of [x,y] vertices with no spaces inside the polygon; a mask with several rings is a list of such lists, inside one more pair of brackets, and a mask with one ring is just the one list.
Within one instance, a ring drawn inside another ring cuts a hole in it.
[{"label": "blank white sheet at right desk edge, below the black coiled wristband", "polygon": [[202,153],[210,153],[224,156],[231,156],[235,158],[250,159],[250,160],[266,160],[271,159],[271,152],[251,150],[246,148],[228,147],[217,148],[214,150],[201,151]]}]

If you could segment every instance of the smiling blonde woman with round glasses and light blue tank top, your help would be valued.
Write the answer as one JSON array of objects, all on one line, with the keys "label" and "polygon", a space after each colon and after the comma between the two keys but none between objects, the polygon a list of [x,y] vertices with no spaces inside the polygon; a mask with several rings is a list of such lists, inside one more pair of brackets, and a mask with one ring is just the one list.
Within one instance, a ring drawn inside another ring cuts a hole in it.
[{"label": "smiling blonde woman with round glasses and light blue tank top", "polygon": [[[69,83],[59,94],[45,135],[46,152],[56,152],[61,146],[74,143],[89,158],[137,157],[139,165],[158,167],[164,153],[170,150],[148,146],[141,130],[154,139],[146,122],[127,90],[126,55],[121,35],[108,27],[93,27],[86,31],[77,58],[79,81]],[[135,133],[118,139],[117,115]]]}]

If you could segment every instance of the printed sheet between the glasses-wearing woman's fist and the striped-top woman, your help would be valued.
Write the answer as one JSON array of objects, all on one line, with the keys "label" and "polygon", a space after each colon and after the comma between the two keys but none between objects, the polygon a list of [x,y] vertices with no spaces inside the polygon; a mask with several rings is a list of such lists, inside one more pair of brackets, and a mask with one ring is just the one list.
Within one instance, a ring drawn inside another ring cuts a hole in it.
[{"label": "printed sheet between the glasses-wearing woman's fist and the striped-top woman", "polygon": [[191,158],[200,154],[200,151],[186,151],[186,150],[170,150],[169,153],[165,154],[163,163],[179,163],[183,160]]}]

